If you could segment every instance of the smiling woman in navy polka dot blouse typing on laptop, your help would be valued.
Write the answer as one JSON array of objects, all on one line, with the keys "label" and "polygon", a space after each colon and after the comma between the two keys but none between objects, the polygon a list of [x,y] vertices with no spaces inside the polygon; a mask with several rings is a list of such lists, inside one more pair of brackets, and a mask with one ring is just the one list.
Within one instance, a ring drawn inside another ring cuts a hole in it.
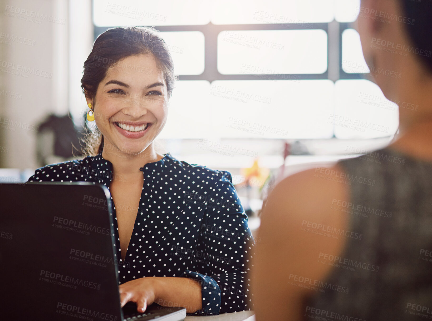
[{"label": "smiling woman in navy polka dot blouse typing on laptop", "polygon": [[231,174],[159,154],[174,87],[172,58],[151,28],[99,35],[81,79],[95,126],[87,156],[38,168],[29,181],[89,181],[113,201],[121,305],[188,313],[249,309],[254,241]]}]

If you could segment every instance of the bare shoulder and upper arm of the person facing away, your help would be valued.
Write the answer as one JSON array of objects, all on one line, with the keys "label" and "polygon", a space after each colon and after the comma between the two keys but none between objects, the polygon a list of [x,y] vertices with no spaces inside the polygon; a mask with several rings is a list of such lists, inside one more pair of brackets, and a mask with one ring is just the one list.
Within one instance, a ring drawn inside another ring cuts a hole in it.
[{"label": "bare shoulder and upper arm of the person facing away", "polygon": [[[337,201],[349,199],[349,183],[338,178],[340,173],[343,169],[339,165],[296,173],[277,184],[267,198],[254,260],[258,305],[276,308],[293,302],[284,313],[295,320],[295,311],[288,310],[297,309],[305,293],[311,291],[302,282],[322,281],[329,273],[331,267],[320,264],[319,256],[340,254],[346,239],[340,231],[348,225],[346,213],[334,207]],[[266,286],[258,285],[263,284],[269,270],[282,276],[284,282],[267,280]],[[257,315],[264,313],[261,308],[256,308]]]}]

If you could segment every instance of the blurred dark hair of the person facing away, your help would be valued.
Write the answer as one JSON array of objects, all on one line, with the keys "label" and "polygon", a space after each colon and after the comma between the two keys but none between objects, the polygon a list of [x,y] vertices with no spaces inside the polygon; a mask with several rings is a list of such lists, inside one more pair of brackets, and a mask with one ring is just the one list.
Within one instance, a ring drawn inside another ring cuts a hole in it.
[{"label": "blurred dark hair of the person facing away", "polygon": [[419,60],[432,73],[432,1],[431,0],[399,0],[403,15],[413,19],[412,24],[404,23],[408,35],[416,48],[428,51],[428,55],[417,54]]}]

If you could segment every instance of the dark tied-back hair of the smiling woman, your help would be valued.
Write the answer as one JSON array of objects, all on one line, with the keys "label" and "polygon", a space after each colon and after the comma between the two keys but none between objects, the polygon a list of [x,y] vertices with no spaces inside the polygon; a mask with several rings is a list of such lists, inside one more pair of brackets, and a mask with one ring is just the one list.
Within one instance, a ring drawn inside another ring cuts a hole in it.
[{"label": "dark tied-back hair of the smiling woman", "polygon": [[[84,62],[81,78],[81,88],[86,98],[95,98],[99,83],[105,78],[109,67],[126,57],[140,54],[151,54],[155,58],[165,78],[168,98],[171,97],[175,84],[174,64],[165,40],[152,27],[131,26],[108,29],[93,43],[92,51]],[[93,100],[93,105],[95,104]],[[84,121],[87,122],[85,114]],[[102,153],[103,136],[96,126],[87,127],[89,130],[83,140],[83,155],[95,156]]]}]

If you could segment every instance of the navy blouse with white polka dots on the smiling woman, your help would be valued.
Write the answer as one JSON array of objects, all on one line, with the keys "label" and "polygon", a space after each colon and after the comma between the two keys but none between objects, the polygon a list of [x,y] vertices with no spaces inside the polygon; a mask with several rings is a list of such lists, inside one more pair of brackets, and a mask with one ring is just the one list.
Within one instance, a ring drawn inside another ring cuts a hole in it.
[{"label": "navy blouse with white polka dots on the smiling woman", "polygon": [[[197,315],[250,310],[254,240],[231,174],[165,154],[144,165],[143,191],[120,283],[140,277],[189,277],[201,285]],[[109,188],[112,164],[102,154],[38,168],[29,181],[89,181]],[[112,197],[111,197],[112,201]],[[121,257],[115,204],[116,256]]]}]

